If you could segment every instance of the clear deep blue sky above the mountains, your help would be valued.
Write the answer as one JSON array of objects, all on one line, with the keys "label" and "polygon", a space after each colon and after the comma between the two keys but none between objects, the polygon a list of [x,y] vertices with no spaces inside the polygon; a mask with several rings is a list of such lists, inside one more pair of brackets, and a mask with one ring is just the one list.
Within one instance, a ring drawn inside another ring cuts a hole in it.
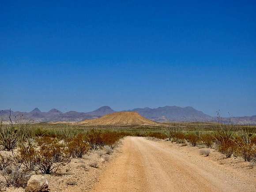
[{"label": "clear deep blue sky above the mountains", "polygon": [[0,109],[256,115],[256,1],[2,1]]}]

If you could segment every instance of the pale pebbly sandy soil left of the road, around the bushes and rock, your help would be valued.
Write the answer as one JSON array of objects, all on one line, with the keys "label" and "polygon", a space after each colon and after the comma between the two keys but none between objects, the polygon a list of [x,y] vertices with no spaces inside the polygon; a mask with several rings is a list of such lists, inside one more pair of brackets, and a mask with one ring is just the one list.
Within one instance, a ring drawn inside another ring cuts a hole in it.
[{"label": "pale pebbly sandy soil left of the road, around the bushes and rock", "polygon": [[[109,162],[119,156],[120,143],[114,149],[113,154],[105,154],[105,150],[90,151],[83,158],[73,158],[70,163],[62,166],[58,174],[47,175],[45,178],[49,183],[50,192],[87,192],[91,191],[98,177],[106,169]],[[102,151],[102,156],[99,152]],[[17,150],[15,151],[15,153]],[[11,151],[0,151],[1,155],[12,156]],[[105,160],[107,156],[109,160]],[[90,167],[91,162],[98,162],[98,168]],[[39,172],[38,172],[39,173]],[[35,173],[33,173],[35,174]],[[5,187],[2,183],[4,178],[0,175],[0,191],[24,192],[24,188]]]}]

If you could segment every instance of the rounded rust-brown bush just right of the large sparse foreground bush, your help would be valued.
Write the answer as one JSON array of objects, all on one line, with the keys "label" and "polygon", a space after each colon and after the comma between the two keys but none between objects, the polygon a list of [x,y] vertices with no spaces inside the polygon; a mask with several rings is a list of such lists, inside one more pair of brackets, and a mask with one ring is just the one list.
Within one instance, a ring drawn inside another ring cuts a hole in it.
[{"label": "rounded rust-brown bush just right of the large sparse foreground bush", "polygon": [[79,134],[68,142],[67,153],[74,158],[82,158],[90,149],[86,136]]}]

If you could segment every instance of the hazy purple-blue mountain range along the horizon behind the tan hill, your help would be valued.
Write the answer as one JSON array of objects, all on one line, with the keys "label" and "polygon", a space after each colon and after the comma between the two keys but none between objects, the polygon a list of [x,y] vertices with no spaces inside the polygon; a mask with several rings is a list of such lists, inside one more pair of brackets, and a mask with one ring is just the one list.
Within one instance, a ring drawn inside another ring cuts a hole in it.
[{"label": "hazy purple-blue mountain range along the horizon behind the tan hill", "polygon": [[[191,121],[203,121],[203,122],[216,122],[217,117],[211,117],[203,113],[202,111],[196,110],[193,107],[179,107],[179,106],[165,106],[151,109],[146,108],[136,108],[131,110],[125,110],[130,112],[137,112],[141,116],[147,119],[158,121],[158,122],[168,122],[168,121],[178,121],[178,122],[191,122]],[[40,109],[35,108],[30,112],[19,112],[11,111],[12,120],[34,120],[36,122],[54,122],[54,121],[83,121],[91,120],[102,117],[106,114],[114,113],[113,109],[109,106],[102,106],[91,112],[83,113],[76,111],[69,111],[66,113],[61,112],[58,109],[51,109],[48,112],[41,112]],[[0,120],[9,119],[9,110],[0,110]],[[230,118],[222,118],[223,123],[228,123]],[[231,121],[236,124],[256,124],[256,115],[250,117],[232,117]]]}]

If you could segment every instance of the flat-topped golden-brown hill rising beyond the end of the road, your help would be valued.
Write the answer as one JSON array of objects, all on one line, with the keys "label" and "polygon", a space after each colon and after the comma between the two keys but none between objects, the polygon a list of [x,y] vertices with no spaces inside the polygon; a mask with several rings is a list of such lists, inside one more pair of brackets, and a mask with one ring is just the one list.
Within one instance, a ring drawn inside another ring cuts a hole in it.
[{"label": "flat-topped golden-brown hill rising beyond the end of the road", "polygon": [[77,124],[84,125],[150,125],[150,126],[159,126],[160,123],[154,122],[153,120],[146,119],[139,115],[136,112],[117,112],[107,114],[103,117],[93,120],[84,120]]}]

